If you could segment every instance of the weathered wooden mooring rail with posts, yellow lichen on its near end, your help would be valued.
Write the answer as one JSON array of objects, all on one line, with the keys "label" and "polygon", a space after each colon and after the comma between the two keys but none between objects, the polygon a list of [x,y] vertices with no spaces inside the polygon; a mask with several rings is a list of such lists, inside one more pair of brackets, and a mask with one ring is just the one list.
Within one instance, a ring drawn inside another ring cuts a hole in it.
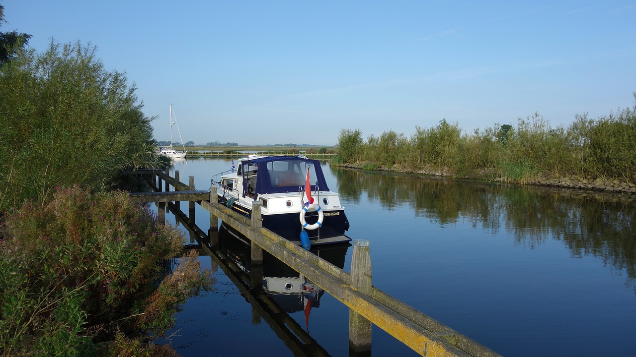
[{"label": "weathered wooden mooring rail with posts, yellow lichen on its near end", "polygon": [[[500,356],[373,286],[369,241],[354,240],[352,267],[349,274],[263,228],[258,202],[252,206],[251,218],[247,218],[224,205],[219,205],[216,187],[211,187],[210,192],[204,191],[207,197],[201,191],[194,190],[192,176],[190,183],[186,185],[179,181],[178,172],[175,173],[174,178],[170,177],[167,172],[160,171],[146,173],[146,175],[152,176],[147,181],[155,189],[161,189],[161,181],[163,180],[166,191],[169,191],[169,185],[172,185],[174,190],[179,191],[183,196],[168,194],[168,192],[162,192],[165,196],[158,194],[146,197],[140,194],[139,196],[143,199],[152,197],[190,199],[191,201],[188,203],[190,214],[187,221],[193,226],[195,226],[194,204],[196,201],[210,212],[211,230],[216,229],[217,218],[219,218],[249,238],[252,264],[262,262],[263,250],[265,250],[348,306],[350,309],[349,345],[352,351],[356,353],[371,351],[371,324],[374,324],[422,356]],[[135,199],[135,197],[138,196],[131,195],[131,199]],[[157,202],[161,217],[162,210],[165,210],[166,201]],[[176,203],[177,205],[178,203]],[[186,220],[184,217],[181,219]],[[209,234],[209,236],[212,238],[213,234]],[[211,239],[210,246],[214,248],[214,239]]]}]

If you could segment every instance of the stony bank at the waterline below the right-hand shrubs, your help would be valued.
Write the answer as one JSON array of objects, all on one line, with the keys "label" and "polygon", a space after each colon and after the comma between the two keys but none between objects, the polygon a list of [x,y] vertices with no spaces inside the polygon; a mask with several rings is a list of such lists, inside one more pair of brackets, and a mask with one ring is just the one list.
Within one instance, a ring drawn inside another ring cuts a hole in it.
[{"label": "stony bank at the waterline below the right-hand shrubs", "polygon": [[[334,164],[333,166],[339,166],[343,168],[353,168],[356,170],[369,170],[370,166],[364,163],[359,164]],[[397,172],[397,173],[414,173],[418,175],[428,175],[428,176],[438,176],[438,177],[448,177],[452,179],[465,179],[465,180],[482,180],[482,181],[491,181],[491,182],[506,182],[509,184],[518,184],[518,185],[539,185],[546,187],[557,187],[564,189],[579,189],[585,191],[597,191],[597,192],[606,192],[606,193],[614,193],[614,194],[630,194],[636,195],[636,184],[631,182],[625,182],[618,179],[613,178],[584,178],[584,177],[554,177],[553,175],[542,174],[538,177],[534,177],[531,179],[520,181],[511,181],[504,179],[502,177],[492,178],[492,172],[481,172],[476,175],[471,176],[457,176],[453,175],[452,172],[447,169],[428,169],[428,168],[404,168],[400,165],[392,165],[390,168],[382,165],[375,166],[373,165],[373,170],[369,171],[383,171],[383,172]]]}]

